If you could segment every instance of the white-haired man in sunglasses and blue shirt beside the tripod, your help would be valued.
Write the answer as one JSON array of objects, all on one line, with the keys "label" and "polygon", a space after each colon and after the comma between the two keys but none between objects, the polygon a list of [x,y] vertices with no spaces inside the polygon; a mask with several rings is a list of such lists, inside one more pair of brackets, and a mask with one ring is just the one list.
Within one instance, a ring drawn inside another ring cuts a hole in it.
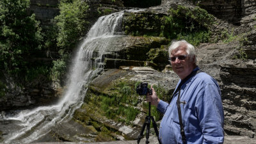
[{"label": "white-haired man in sunglasses and blue shirt beside the tripod", "polygon": [[159,129],[163,144],[223,143],[224,114],[220,87],[196,66],[195,47],[180,40],[169,47],[170,63],[180,77],[170,104],[154,88],[147,101],[164,113]]}]

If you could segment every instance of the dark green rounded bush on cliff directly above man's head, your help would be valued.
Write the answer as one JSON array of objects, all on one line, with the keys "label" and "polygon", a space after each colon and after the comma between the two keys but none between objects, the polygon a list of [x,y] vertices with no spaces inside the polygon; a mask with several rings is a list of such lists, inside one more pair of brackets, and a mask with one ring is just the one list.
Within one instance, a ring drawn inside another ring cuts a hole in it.
[{"label": "dark green rounded bush on cliff directly above man's head", "polygon": [[170,10],[170,16],[166,17],[163,33],[171,39],[185,39],[193,45],[209,42],[210,31],[207,28],[214,24],[214,17],[202,8],[189,10],[184,6],[178,6],[177,10]]}]

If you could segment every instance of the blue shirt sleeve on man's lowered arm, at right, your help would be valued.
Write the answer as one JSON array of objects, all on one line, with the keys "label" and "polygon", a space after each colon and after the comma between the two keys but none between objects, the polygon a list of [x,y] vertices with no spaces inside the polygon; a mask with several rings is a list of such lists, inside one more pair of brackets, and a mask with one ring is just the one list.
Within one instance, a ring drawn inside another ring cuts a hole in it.
[{"label": "blue shirt sleeve on man's lowered arm, at right", "polygon": [[224,114],[220,89],[206,84],[204,94],[196,100],[196,112],[204,136],[204,143],[223,143]]}]

